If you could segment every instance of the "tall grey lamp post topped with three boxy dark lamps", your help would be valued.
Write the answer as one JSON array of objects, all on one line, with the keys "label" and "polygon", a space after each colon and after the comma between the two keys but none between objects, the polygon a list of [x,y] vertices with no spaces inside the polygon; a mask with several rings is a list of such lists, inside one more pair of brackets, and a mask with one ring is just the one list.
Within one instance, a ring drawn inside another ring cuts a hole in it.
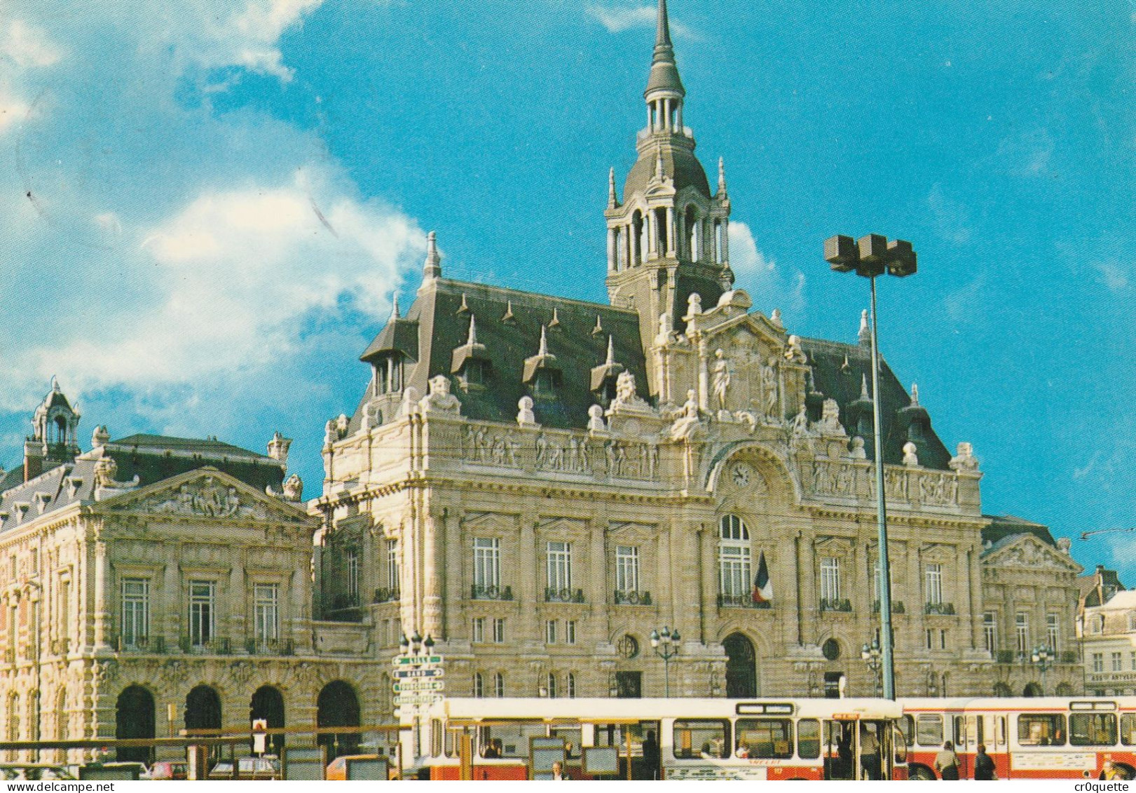
[{"label": "tall grey lamp post topped with three boxy dark lamps", "polygon": [[916,272],[916,252],[904,240],[887,241],[868,234],[857,242],[850,236],[825,240],[825,260],[837,273],[855,270],[871,283],[871,418],[876,457],[876,518],[879,544],[879,643],[884,696],[895,699],[895,650],[892,636],[892,576],[887,564],[887,508],[884,498],[884,450],[879,421],[879,349],[876,340],[876,276],[891,273],[904,277]]}]

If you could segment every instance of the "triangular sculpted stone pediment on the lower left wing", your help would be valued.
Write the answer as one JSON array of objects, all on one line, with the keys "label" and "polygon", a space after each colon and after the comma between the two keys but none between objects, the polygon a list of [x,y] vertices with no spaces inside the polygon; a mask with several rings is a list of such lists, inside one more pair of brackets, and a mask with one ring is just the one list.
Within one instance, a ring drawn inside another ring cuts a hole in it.
[{"label": "triangular sculpted stone pediment on the lower left wing", "polygon": [[308,523],[299,507],[258,492],[240,479],[210,467],[108,499],[99,508],[100,511],[114,514]]}]

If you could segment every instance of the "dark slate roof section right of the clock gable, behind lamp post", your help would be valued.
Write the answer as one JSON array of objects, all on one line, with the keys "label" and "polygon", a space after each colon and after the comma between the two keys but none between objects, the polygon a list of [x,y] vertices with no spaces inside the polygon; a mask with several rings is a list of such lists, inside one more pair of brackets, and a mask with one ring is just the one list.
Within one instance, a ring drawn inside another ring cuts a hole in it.
[{"label": "dark slate roof section right of the clock gable, behind lamp post", "polygon": [[[868,394],[871,394],[871,351],[862,344],[844,344],[821,339],[802,339],[801,349],[808,356],[812,367],[812,390],[827,399],[835,399],[841,407],[841,424],[849,435],[863,437],[868,459],[875,458],[875,439],[871,431],[871,401],[860,400],[860,390],[867,378]],[[845,360],[847,364],[845,365]],[[884,462],[900,465],[903,462],[903,444],[909,440],[916,444],[919,465],[925,468],[949,470],[951,453],[943,445],[938,435],[930,428],[930,417],[919,408],[910,410],[911,396],[892,373],[887,361],[880,358],[879,391],[880,435],[884,442]],[[819,398],[813,398],[819,402]],[[813,420],[820,418],[820,406],[812,404],[816,411]],[[914,419],[926,420],[926,431],[912,432]],[[857,432],[860,419],[863,418],[862,433]]]}]

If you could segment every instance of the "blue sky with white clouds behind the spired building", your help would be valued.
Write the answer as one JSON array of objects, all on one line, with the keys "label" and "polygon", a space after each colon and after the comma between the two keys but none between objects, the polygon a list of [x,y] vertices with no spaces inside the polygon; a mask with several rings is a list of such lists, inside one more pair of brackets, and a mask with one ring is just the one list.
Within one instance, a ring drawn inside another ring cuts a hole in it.
[{"label": "blue sky with white clouds behind the spired building", "polygon": [[[882,347],[985,511],[1136,526],[1136,5],[670,10],[754,307],[853,341],[822,240],[911,240]],[[652,42],[633,0],[0,0],[0,461],[58,375],[84,440],[279,429],[315,494],[426,231],[446,275],[605,299]],[[1074,553],[1136,584],[1134,543]]]}]

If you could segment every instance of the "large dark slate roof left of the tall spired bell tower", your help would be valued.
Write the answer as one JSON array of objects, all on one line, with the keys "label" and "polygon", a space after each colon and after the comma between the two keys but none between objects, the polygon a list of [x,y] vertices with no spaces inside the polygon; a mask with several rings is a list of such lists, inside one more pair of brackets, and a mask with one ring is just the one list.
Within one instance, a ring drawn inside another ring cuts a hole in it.
[{"label": "large dark slate roof left of the tall spired bell tower", "polygon": [[[462,310],[462,295],[467,310]],[[512,319],[502,322],[510,304]],[[558,320],[554,326],[553,309]],[[615,342],[616,361],[635,375],[640,394],[645,398],[646,365],[640,345],[638,315],[634,311],[449,278],[437,278],[434,287],[420,293],[406,316],[392,319],[361,358],[368,360],[391,349],[403,352],[408,356],[407,385],[425,395],[431,377],[453,376],[453,352],[466,343],[470,315],[477,318],[477,342],[485,345],[488,372],[484,387],[466,392],[454,384],[452,393],[461,402],[462,416],[516,420],[517,402],[521,396],[533,395],[524,382],[524,366],[526,358],[537,353],[541,325],[548,327],[549,353],[556,356],[554,366],[562,381],[556,399],[534,398],[540,424],[587,425],[587,409],[596,402],[591,392],[591,372],[607,358],[609,334]],[[600,333],[593,333],[596,317]],[[366,401],[365,394],[351,420],[352,429],[359,427]]]}]

